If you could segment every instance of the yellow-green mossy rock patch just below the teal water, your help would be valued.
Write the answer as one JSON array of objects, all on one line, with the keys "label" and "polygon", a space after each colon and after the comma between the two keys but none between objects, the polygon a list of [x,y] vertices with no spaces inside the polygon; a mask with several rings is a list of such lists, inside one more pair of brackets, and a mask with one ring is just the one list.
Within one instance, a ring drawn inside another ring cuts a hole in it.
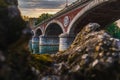
[{"label": "yellow-green mossy rock patch just below the teal water", "polygon": [[30,65],[40,71],[48,69],[52,65],[52,58],[48,54],[31,54]]}]

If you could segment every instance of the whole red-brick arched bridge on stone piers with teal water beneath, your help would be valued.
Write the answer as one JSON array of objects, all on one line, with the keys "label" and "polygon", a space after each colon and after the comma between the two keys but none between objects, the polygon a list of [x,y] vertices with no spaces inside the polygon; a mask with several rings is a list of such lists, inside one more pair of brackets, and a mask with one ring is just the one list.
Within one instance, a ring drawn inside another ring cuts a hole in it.
[{"label": "whole red-brick arched bridge on stone piers with teal water beneath", "polygon": [[103,29],[118,19],[119,0],[79,0],[32,30],[33,53],[64,51],[86,24],[96,22]]}]

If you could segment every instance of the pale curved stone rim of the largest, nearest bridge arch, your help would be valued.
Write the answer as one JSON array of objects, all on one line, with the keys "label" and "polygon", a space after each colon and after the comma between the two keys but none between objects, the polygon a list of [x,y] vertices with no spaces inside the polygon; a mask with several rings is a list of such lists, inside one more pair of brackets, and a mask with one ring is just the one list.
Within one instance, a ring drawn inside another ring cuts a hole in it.
[{"label": "pale curved stone rim of the largest, nearest bridge arch", "polygon": [[94,9],[97,6],[101,6],[104,5],[110,1],[118,1],[118,0],[93,0],[92,2],[90,2],[85,8],[83,8],[80,12],[77,13],[77,15],[73,18],[73,20],[71,21],[67,33],[70,34],[71,29],[74,27],[74,23],[77,22],[77,20],[79,18],[83,18],[83,16],[85,16],[85,14],[87,14],[90,10]]}]

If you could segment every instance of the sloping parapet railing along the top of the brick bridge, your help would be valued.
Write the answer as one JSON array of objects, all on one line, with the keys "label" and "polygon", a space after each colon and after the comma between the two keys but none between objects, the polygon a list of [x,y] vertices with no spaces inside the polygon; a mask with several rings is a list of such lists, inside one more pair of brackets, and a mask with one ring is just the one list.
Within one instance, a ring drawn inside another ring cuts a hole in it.
[{"label": "sloping parapet railing along the top of the brick bridge", "polygon": [[74,3],[72,3],[71,5],[65,7],[64,9],[60,10],[54,16],[52,16],[52,17],[42,21],[41,23],[37,24],[35,28],[37,28],[39,25],[42,25],[44,23],[47,23],[47,22],[53,20],[54,18],[57,18],[58,16],[60,16],[63,13],[67,13],[69,10],[72,10],[72,9],[74,9],[74,8],[80,6],[80,5],[83,5],[84,3],[89,2],[89,1],[93,1],[93,0],[78,0],[78,1],[76,1]]}]

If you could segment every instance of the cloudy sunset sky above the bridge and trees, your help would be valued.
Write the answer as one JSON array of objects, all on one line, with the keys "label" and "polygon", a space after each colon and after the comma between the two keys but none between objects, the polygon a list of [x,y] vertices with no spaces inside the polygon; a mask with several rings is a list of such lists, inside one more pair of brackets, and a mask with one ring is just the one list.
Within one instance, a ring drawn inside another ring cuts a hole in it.
[{"label": "cloudy sunset sky above the bridge and trees", "polygon": [[[71,4],[76,0],[68,0]],[[38,17],[42,13],[55,14],[63,9],[66,0],[18,0],[19,9],[23,16]]]}]

